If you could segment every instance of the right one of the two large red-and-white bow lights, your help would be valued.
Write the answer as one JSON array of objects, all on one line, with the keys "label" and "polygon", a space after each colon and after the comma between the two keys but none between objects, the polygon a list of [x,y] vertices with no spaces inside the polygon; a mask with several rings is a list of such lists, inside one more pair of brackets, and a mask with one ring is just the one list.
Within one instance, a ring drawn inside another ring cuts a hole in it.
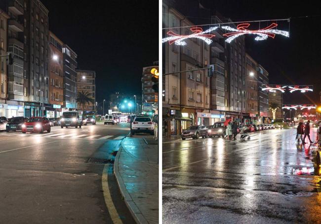
[{"label": "right one of the two large red-and-white bow lights", "polygon": [[234,31],[234,32],[229,32],[223,34],[224,36],[227,36],[228,38],[225,40],[228,43],[231,43],[232,40],[235,38],[244,35],[244,34],[255,34],[258,35],[255,37],[255,40],[266,40],[268,37],[274,38],[276,34],[280,34],[286,37],[289,37],[289,32],[287,31],[280,31],[280,30],[272,30],[272,28],[275,28],[278,26],[276,23],[272,23],[270,26],[260,29],[260,30],[247,30],[245,28],[248,28],[250,26],[249,23],[243,23],[239,24],[237,26],[237,29],[232,28],[230,26],[223,26],[222,29],[227,30],[227,31]]}]

